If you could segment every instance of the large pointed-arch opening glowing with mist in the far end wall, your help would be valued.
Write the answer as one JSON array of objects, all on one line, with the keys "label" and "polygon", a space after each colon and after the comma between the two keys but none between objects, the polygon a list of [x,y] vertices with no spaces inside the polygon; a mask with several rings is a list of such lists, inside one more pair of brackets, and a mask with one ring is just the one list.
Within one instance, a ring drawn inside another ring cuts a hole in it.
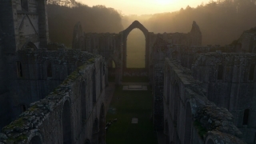
[{"label": "large pointed-arch opening glowing with mist in the far end wall", "polygon": [[146,40],[139,29],[134,29],[127,37],[126,67],[145,68]]}]

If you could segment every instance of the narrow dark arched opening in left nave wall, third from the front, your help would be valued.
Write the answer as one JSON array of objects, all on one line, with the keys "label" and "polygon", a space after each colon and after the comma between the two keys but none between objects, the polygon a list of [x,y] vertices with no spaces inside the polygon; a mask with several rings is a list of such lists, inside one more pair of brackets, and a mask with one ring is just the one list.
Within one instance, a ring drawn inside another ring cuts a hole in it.
[{"label": "narrow dark arched opening in left nave wall, third from the front", "polygon": [[87,118],[87,109],[86,109],[86,82],[82,82],[80,87],[81,91],[81,116],[82,116],[82,126],[84,126]]}]

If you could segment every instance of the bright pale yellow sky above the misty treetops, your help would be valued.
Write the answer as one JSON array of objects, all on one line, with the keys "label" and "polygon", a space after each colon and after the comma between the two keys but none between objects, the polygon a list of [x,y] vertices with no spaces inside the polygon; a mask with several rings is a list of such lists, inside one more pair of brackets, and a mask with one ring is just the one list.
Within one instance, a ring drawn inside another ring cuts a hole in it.
[{"label": "bright pale yellow sky above the misty treetops", "polygon": [[104,5],[120,10],[122,14],[155,14],[195,7],[210,0],[77,0],[88,6]]}]

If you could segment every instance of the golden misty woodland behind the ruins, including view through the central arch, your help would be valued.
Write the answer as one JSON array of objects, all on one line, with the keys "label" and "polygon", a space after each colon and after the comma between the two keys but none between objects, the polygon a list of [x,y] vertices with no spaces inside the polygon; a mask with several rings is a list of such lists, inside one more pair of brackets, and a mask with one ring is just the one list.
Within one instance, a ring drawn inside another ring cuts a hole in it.
[{"label": "golden misty woodland behind the ruins, including view through the central arch", "polygon": [[[256,26],[256,0],[211,0],[197,7],[186,6],[174,12],[144,15],[122,15],[113,8],[90,7],[78,2],[73,2],[71,7],[51,3],[48,5],[50,40],[68,47],[71,47],[76,22],[82,23],[86,33],[118,33],[134,20],[154,33],[188,33],[195,21],[202,31],[203,46],[229,45],[244,30]],[[144,66],[144,49],[144,35],[140,30],[133,30],[127,39],[128,67],[131,63],[138,64],[134,67]]]}]

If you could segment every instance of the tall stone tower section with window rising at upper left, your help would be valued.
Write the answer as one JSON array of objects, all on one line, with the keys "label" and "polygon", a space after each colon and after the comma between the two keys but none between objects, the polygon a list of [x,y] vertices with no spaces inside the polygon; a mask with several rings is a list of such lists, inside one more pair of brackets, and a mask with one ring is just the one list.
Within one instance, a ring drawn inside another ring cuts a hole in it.
[{"label": "tall stone tower section with window rising at upper left", "polygon": [[[22,2],[22,3],[21,3]],[[49,41],[46,1],[18,1],[1,2],[2,28],[4,30],[4,44],[6,52],[14,54],[17,50],[31,47],[46,47]],[[12,44],[13,43],[13,44]]]}]

